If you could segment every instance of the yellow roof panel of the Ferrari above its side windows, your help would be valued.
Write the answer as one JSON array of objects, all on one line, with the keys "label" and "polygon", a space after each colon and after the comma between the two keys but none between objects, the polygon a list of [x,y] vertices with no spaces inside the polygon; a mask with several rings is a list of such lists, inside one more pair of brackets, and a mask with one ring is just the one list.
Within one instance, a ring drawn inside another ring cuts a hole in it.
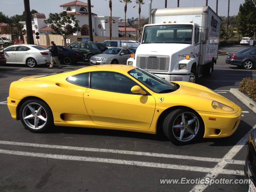
[{"label": "yellow roof panel of the Ferrari above its side windows", "polygon": [[92,65],[84,68],[80,68],[74,71],[74,74],[84,73],[84,72],[95,72],[95,71],[112,71],[127,73],[128,71],[136,67],[131,65],[116,65],[116,64],[106,64],[106,65]]}]

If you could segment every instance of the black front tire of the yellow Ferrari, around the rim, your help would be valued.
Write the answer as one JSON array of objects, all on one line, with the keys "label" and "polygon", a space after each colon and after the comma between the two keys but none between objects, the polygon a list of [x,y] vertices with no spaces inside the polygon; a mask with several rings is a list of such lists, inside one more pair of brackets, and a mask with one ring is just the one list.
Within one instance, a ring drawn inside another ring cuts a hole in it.
[{"label": "black front tire of the yellow Ferrari, around the rim", "polygon": [[[192,124],[184,124],[184,126],[187,126],[187,128],[181,128],[181,129],[173,128],[174,124],[175,124],[175,126],[183,125],[182,121],[177,122],[180,124],[176,124],[176,120],[181,120],[180,119],[181,114],[184,114],[184,116],[186,117],[185,120],[189,121],[190,120],[189,116],[191,116],[193,118],[197,118],[197,120],[195,120],[195,122],[193,122]],[[188,116],[186,116],[186,114]],[[195,128],[193,129],[192,126],[195,126]],[[187,131],[188,129],[189,129],[189,131],[192,129],[194,131],[195,135],[190,134]],[[183,141],[178,140],[178,134],[179,134],[178,132],[180,131],[180,134],[181,134],[181,131],[183,131],[183,130],[184,130],[184,136],[182,137]],[[180,108],[180,109],[173,110],[169,114],[166,115],[166,117],[164,118],[164,121],[163,121],[163,132],[164,132],[165,136],[173,144],[176,144],[176,145],[189,144],[189,143],[195,142],[198,139],[201,139],[203,137],[204,123],[202,122],[202,118],[194,110]],[[189,134],[190,134],[190,136],[189,136]],[[186,136],[187,136],[187,138],[186,138]]]}]

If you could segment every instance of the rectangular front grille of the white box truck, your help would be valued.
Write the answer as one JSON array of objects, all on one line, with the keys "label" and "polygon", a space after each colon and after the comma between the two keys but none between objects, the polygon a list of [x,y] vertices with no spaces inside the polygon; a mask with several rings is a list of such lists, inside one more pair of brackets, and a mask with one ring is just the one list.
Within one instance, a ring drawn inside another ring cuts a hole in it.
[{"label": "rectangular front grille of the white box truck", "polygon": [[166,72],[169,70],[170,57],[165,55],[138,55],[136,65],[148,71]]}]

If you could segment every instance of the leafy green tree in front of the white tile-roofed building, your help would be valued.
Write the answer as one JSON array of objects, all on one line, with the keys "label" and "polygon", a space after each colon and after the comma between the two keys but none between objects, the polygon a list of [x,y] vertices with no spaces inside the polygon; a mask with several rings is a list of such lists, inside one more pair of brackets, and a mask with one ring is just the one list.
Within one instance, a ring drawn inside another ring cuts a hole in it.
[{"label": "leafy green tree in front of the white tile-roofed building", "polygon": [[44,20],[46,24],[48,24],[54,34],[61,35],[65,40],[65,46],[66,46],[66,39],[81,30],[78,20],[74,16],[74,14],[67,14],[66,11],[58,13],[50,13],[49,18]]}]

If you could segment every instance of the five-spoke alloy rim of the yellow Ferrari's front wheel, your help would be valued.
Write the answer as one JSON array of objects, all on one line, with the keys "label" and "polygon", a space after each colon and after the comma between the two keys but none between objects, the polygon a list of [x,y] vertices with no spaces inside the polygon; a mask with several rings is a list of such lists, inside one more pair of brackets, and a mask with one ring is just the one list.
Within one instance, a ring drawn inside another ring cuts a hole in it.
[{"label": "five-spoke alloy rim of the yellow Ferrari's front wheel", "polygon": [[176,117],[172,125],[174,137],[181,142],[192,140],[199,131],[198,117],[191,112],[184,112]]}]

